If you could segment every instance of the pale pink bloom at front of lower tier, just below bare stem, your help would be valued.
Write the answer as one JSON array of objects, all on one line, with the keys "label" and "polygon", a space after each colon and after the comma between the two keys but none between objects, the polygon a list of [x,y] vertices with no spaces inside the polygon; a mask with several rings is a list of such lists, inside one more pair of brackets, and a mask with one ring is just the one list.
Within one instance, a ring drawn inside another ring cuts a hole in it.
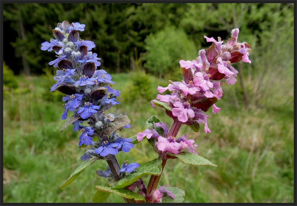
[{"label": "pale pink bloom at front of lower tier, just below bare stem", "polygon": [[162,152],[168,151],[173,154],[178,154],[178,150],[183,148],[183,146],[180,143],[177,143],[172,136],[168,138],[159,136],[157,148]]}]

